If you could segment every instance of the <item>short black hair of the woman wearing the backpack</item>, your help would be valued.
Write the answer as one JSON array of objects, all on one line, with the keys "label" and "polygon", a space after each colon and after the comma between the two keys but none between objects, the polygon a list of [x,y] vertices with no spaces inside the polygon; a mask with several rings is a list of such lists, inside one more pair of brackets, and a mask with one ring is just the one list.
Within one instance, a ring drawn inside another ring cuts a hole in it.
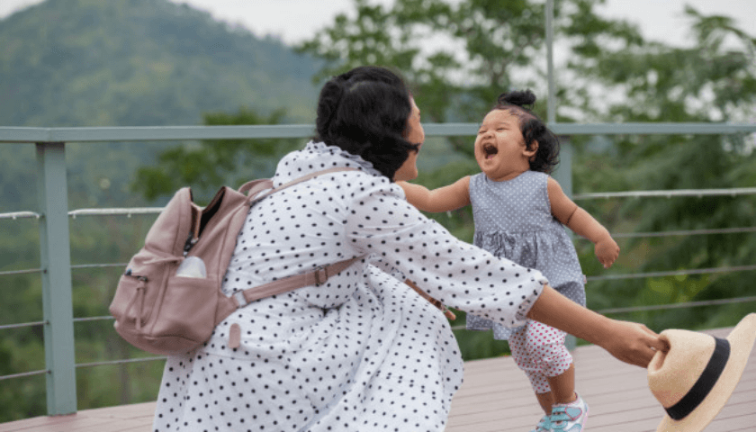
[{"label": "short black hair of the woman wearing the backpack", "polygon": [[320,90],[315,139],[371,162],[393,179],[420,143],[406,139],[410,92],[385,67],[356,67],[334,76]]}]

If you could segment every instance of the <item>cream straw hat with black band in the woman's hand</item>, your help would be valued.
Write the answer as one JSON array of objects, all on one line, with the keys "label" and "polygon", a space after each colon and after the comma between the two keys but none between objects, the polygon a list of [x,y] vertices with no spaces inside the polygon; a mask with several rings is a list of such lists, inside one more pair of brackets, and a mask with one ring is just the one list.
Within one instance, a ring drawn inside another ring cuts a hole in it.
[{"label": "cream straw hat with black band in the woman's hand", "polygon": [[664,330],[670,344],[648,365],[648,385],[667,415],[657,432],[699,432],[725,406],[751,355],[756,313],[747,315],[726,339],[688,330]]}]

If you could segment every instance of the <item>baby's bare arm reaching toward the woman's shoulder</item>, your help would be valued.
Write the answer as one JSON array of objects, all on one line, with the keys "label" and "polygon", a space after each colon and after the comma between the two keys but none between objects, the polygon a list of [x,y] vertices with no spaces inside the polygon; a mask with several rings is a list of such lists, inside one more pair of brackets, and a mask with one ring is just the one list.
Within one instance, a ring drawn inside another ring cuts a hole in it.
[{"label": "baby's bare arm reaching toward the woman's shoulder", "polygon": [[453,184],[429,191],[427,187],[407,182],[396,182],[407,195],[407,202],[421,211],[437,213],[456,210],[470,204],[470,176],[466,175]]}]

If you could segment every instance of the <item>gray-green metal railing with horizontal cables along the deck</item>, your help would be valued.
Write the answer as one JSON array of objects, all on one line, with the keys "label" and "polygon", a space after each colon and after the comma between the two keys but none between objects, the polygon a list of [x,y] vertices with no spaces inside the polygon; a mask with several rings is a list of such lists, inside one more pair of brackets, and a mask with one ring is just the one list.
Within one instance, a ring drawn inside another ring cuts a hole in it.
[{"label": "gray-green metal railing with horizontal cables along the deck", "polygon": [[[625,134],[739,134],[756,132],[752,124],[563,124],[551,123],[550,128],[560,135],[625,135]],[[428,137],[470,136],[477,131],[477,123],[429,123],[425,126]],[[182,127],[130,127],[130,128],[0,128],[0,142],[34,143],[37,152],[37,211],[15,211],[0,215],[0,219],[35,218],[40,230],[40,268],[3,272],[0,275],[39,273],[42,281],[42,309],[44,320],[24,324],[2,326],[0,329],[41,326],[44,330],[46,369],[23,374],[6,375],[17,378],[45,374],[47,383],[48,413],[50,415],[76,412],[76,368],[112,364],[99,362],[76,365],[74,353],[74,323],[79,320],[106,320],[110,317],[73,317],[71,270],[86,266],[72,266],[70,258],[68,218],[94,214],[139,214],[157,213],[159,208],[144,209],[81,209],[67,208],[66,142],[102,141],[160,141],[195,139],[263,139],[307,138],[314,129],[311,125],[280,126],[182,126]],[[94,145],[94,144],[93,144]],[[563,146],[562,166],[554,176],[563,185],[565,193],[572,195],[572,148],[569,141]],[[677,196],[680,194],[752,194],[754,188],[700,191],[635,191],[629,193],[584,193],[575,200],[604,199],[621,196]],[[746,230],[753,230],[748,227]],[[689,232],[687,232],[689,234]],[[685,235],[684,233],[675,233]],[[650,233],[650,235],[654,235]],[[658,235],[658,233],[656,234]],[[729,270],[749,270],[749,268]],[[721,269],[696,270],[716,272]],[[675,275],[680,272],[673,272]],[[654,274],[656,275],[656,274]],[[648,277],[653,275],[632,275]],[[622,275],[604,276],[623,277]],[[630,277],[630,276],[625,276]],[[661,306],[660,306],[661,307]],[[653,307],[652,307],[653,308]],[[162,357],[136,359],[144,361]],[[124,363],[130,360],[117,360]]]}]

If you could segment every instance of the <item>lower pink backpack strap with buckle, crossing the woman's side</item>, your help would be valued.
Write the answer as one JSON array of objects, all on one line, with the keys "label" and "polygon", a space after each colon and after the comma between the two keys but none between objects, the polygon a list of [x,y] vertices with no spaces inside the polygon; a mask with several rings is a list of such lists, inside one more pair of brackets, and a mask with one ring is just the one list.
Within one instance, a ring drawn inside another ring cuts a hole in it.
[{"label": "lower pink backpack strap with buckle, crossing the woman's side", "polygon": [[308,285],[319,286],[325,284],[330,276],[338,275],[342,270],[363,258],[365,257],[345,259],[344,261],[339,261],[330,266],[320,266],[310,273],[292,275],[267,284],[257,285],[254,288],[234,293],[233,298],[236,300],[238,308],[241,308],[246,306],[249,302],[255,302],[256,300],[270,297],[272,295],[287,293]]}]

